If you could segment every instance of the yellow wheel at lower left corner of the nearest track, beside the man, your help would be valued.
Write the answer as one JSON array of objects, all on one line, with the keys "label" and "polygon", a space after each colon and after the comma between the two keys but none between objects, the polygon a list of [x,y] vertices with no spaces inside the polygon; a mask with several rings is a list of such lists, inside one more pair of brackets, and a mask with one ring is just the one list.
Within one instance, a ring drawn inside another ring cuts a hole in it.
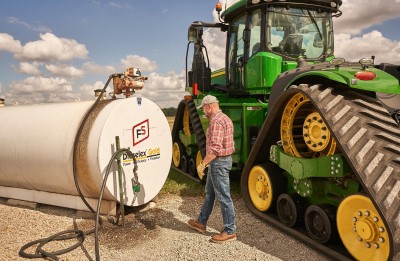
[{"label": "yellow wheel at lower left corner of the nearest track, beside the man", "polygon": [[273,179],[265,165],[254,166],[249,173],[248,189],[253,205],[259,211],[267,211],[275,201],[273,190]]}]

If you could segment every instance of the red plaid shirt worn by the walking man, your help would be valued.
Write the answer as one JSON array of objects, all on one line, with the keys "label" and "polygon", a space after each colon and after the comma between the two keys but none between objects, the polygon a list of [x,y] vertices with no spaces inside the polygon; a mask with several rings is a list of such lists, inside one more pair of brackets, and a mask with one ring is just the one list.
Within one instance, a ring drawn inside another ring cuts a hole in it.
[{"label": "red plaid shirt worn by the walking man", "polygon": [[210,119],[207,129],[206,153],[223,157],[231,155],[234,151],[232,120],[219,111]]}]

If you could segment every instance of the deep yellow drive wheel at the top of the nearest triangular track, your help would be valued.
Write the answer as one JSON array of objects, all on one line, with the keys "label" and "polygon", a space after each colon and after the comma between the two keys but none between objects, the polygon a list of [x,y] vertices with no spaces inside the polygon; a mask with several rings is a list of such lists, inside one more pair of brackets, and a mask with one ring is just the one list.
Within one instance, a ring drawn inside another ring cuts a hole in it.
[{"label": "deep yellow drive wheel at the top of the nearest triangular track", "polygon": [[295,94],[283,111],[281,139],[286,153],[301,158],[318,158],[336,151],[333,139],[321,115],[303,94]]}]

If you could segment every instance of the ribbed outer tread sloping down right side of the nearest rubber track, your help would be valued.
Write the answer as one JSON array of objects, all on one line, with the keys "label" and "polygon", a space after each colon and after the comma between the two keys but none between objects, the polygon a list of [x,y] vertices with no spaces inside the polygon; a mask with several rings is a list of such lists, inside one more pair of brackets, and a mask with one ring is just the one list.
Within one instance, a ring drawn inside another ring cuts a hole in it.
[{"label": "ribbed outer tread sloping down right side of the nearest rubber track", "polygon": [[400,259],[400,128],[376,99],[354,91],[300,85],[386,221],[391,256]]}]

